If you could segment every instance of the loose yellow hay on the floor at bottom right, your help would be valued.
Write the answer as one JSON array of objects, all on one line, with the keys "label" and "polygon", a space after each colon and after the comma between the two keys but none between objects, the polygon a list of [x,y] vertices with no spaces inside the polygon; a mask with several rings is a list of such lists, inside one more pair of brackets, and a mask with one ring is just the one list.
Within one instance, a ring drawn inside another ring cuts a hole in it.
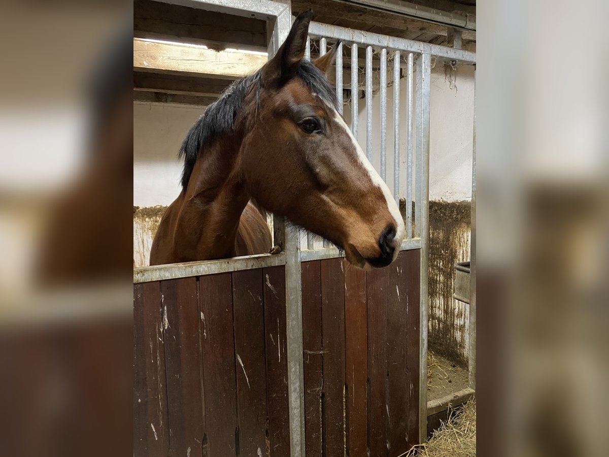
[{"label": "loose yellow hay on the floor at bottom right", "polygon": [[471,457],[476,455],[476,401],[451,409],[426,444],[412,448],[403,457]]}]

